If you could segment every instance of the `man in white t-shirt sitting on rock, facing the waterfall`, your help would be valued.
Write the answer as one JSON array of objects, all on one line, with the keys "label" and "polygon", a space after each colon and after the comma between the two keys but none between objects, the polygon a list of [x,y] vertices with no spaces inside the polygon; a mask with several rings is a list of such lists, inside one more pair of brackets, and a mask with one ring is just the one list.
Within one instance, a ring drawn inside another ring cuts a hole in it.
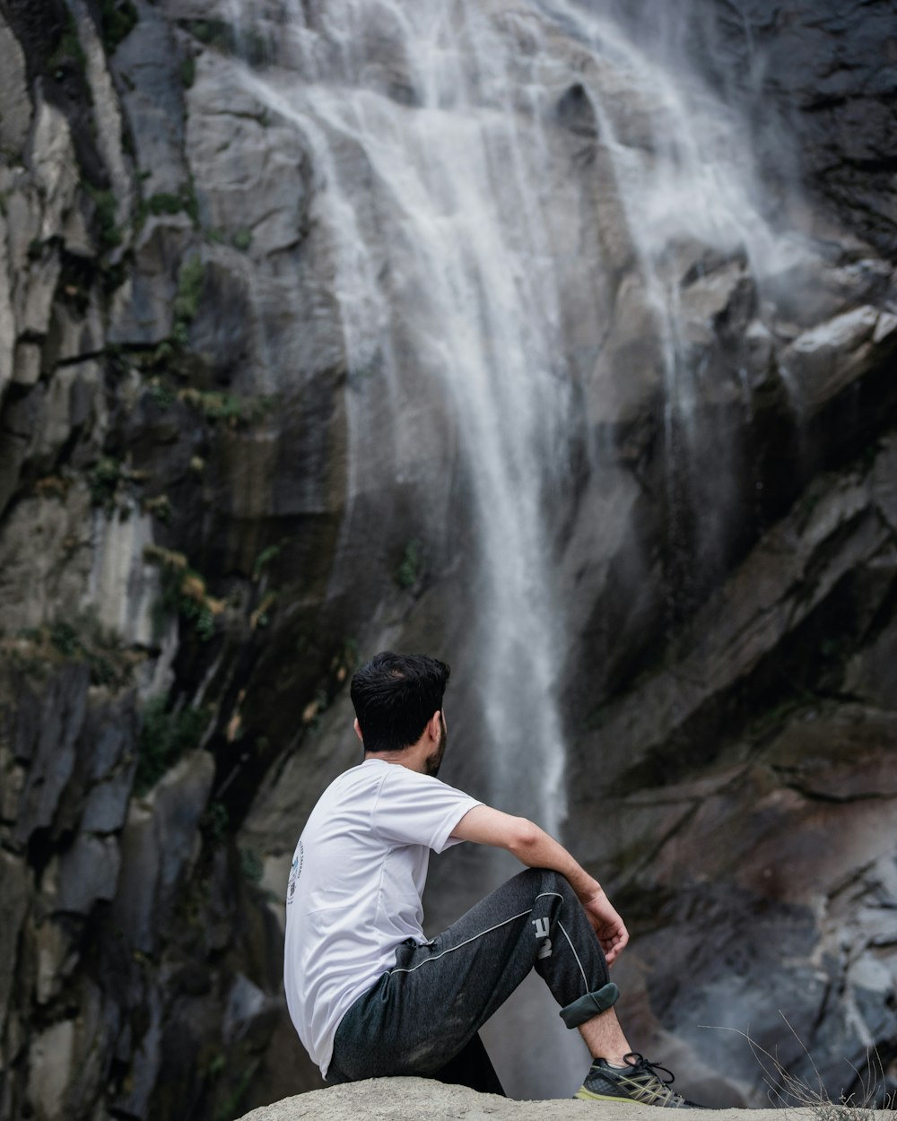
[{"label": "man in white t-shirt sitting on rock, facing the waterfall", "polygon": [[[352,678],[364,759],[315,806],[287,888],[286,994],[303,1044],[329,1082],[447,1078],[482,1060],[479,1028],[535,969],[593,1058],[576,1097],[691,1105],[617,1020],[608,966],[629,935],[601,886],[537,825],[436,778],[449,673],[387,651]],[[427,939],[429,850],[461,841],[507,849],[527,870]],[[500,1092],[488,1076],[478,1088]]]}]

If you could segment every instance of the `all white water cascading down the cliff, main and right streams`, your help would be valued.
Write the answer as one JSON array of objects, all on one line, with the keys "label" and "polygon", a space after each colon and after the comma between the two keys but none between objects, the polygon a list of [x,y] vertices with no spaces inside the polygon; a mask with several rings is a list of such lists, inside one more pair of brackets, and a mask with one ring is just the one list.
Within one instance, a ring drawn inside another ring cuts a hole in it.
[{"label": "all white water cascading down the cliff, main and right streams", "polygon": [[[243,0],[244,25],[255,7]],[[583,396],[603,392],[568,337],[580,328],[566,308],[574,295],[591,306],[582,330],[594,352],[610,326],[602,316],[612,315],[600,295],[611,266],[600,248],[583,262],[570,232],[575,215],[558,202],[572,197],[558,178],[561,100],[584,91],[594,129],[582,148],[598,148],[616,180],[613,205],[602,205],[638,261],[662,354],[668,451],[688,454],[701,373],[682,345],[665,250],[690,239],[743,252],[761,279],[799,249],[774,237],[758,210],[732,115],[588,7],[286,0],[286,8],[271,64],[239,68],[237,80],[292,122],[312,157],[313,220],[330,245],[348,368],[343,552],[352,555],[360,495],[413,487],[431,438],[454,448],[455,462],[426,470],[429,482],[456,472],[471,495],[461,531],[473,543],[473,576],[459,611],[469,652],[478,652],[491,766],[484,793],[557,832],[567,608],[554,577],[558,511],[570,508],[576,442],[593,446]],[[634,128],[634,112],[648,124]],[[577,174],[582,206],[594,209],[588,176]],[[539,1016],[547,1025],[552,1006]],[[512,1092],[571,1092],[582,1067],[576,1040],[571,1049],[570,1038],[546,1038],[540,1062],[533,1058],[525,1056]]]}]

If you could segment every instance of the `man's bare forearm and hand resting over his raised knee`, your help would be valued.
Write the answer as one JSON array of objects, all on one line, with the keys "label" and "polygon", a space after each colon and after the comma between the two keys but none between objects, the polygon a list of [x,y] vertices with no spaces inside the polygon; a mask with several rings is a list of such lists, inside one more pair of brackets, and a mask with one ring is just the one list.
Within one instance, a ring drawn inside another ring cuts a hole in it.
[{"label": "man's bare forearm and hand resting over his raised knee", "polygon": [[629,932],[623,920],[611,907],[598,880],[577,864],[562,844],[526,817],[502,814],[491,806],[474,806],[452,830],[452,836],[507,849],[528,868],[551,868],[560,872],[576,892],[589,916],[608,965],[629,942]]}]

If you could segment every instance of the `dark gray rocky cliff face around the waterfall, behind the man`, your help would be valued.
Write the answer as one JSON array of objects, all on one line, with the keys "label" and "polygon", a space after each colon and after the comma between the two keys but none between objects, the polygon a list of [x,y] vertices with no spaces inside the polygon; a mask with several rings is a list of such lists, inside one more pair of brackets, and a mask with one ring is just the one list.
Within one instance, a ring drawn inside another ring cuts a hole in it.
[{"label": "dark gray rocky cliff face around the waterfall, behind the man", "polygon": [[[388,643],[474,664],[475,463],[382,168],[283,94],[309,81],[293,38],[344,62],[305,7],[299,35],[288,4],[0,0],[0,1117],[225,1119],[318,1085],[278,923],[352,758],[346,677]],[[554,169],[530,267],[560,277],[573,401],[543,495],[566,835],[630,917],[634,1036],[720,1103],[761,1078],[702,1023],[771,1047],[782,1008],[835,1093],[897,1046],[886,7],[692,25],[775,168],[760,252],[648,230],[621,184],[666,166],[663,91],[575,21],[484,6],[544,98],[480,96]],[[410,114],[390,28],[364,81]],[[378,245],[388,354],[349,330],[334,213]],[[460,752],[483,698],[457,677]]]}]

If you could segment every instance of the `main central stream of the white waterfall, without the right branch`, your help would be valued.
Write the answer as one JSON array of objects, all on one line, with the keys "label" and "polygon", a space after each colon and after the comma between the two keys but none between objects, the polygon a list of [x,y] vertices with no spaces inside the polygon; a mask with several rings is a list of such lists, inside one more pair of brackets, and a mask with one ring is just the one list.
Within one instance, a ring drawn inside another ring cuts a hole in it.
[{"label": "main central stream of the white waterfall, without the right branch", "polygon": [[[426,433],[415,397],[451,418],[477,553],[478,586],[459,609],[471,620],[486,734],[509,749],[490,753],[489,785],[557,833],[563,627],[551,503],[573,393],[538,191],[539,114],[518,112],[510,44],[478,4],[296,8],[287,33],[305,80],[271,68],[243,82],[314,152],[350,371],[350,493],[407,482],[404,451]],[[361,184],[353,151],[369,173]],[[383,398],[387,433],[371,425]],[[396,454],[372,480],[369,453],[385,436]]]}]

